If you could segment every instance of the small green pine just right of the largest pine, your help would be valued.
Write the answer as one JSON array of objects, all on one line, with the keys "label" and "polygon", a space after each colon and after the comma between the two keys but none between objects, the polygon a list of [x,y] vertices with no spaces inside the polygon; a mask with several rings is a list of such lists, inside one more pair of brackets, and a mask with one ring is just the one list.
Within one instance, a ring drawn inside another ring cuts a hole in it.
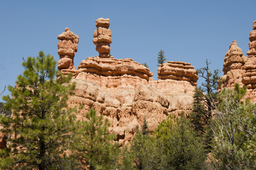
[{"label": "small green pine just right of the largest pine", "polygon": [[74,159],[81,169],[113,169],[118,160],[118,146],[114,144],[115,135],[108,133],[110,124],[103,116],[96,116],[91,109],[79,122],[79,130],[74,142]]}]

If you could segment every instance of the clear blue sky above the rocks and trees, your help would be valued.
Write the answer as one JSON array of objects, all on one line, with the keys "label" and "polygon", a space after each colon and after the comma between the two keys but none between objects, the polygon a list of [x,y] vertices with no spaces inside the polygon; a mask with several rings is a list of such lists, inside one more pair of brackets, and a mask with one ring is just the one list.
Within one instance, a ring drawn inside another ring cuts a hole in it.
[{"label": "clear blue sky above the rocks and trees", "polygon": [[96,18],[110,18],[111,55],[147,62],[154,79],[161,49],[167,60],[190,62],[196,69],[208,59],[212,69],[222,70],[233,40],[238,40],[247,56],[249,33],[256,20],[255,0],[0,2],[0,91],[5,85],[14,86],[23,72],[22,57],[35,57],[43,50],[59,60],[57,35],[66,27],[79,35],[76,67],[98,55],[92,42]]}]

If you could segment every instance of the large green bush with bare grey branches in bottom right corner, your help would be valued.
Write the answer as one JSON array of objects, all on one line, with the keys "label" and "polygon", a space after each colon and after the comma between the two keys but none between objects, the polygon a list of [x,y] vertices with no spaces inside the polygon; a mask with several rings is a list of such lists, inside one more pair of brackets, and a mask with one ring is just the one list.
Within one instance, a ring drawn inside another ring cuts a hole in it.
[{"label": "large green bush with bare grey branches in bottom right corner", "polygon": [[256,105],[241,99],[246,89],[224,89],[213,117],[213,152],[216,169],[256,169]]}]

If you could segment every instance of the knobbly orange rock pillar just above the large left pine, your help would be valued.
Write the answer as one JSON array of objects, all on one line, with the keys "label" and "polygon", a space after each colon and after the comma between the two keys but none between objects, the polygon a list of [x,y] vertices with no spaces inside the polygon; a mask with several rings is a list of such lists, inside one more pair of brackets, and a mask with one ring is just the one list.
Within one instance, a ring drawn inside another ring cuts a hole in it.
[{"label": "knobbly orange rock pillar just above the large left pine", "polygon": [[65,28],[65,32],[58,35],[57,53],[60,55],[60,60],[57,68],[64,74],[76,72],[74,67],[74,54],[77,52],[79,37],[75,35],[69,28]]}]

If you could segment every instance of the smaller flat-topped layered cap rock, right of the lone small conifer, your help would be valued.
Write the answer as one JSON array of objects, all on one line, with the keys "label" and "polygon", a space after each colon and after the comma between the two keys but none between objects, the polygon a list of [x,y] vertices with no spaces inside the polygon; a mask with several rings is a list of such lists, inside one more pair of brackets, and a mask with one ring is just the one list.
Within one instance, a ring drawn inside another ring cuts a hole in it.
[{"label": "smaller flat-topped layered cap rock, right of the lone small conifer", "polygon": [[160,64],[157,74],[158,79],[189,81],[192,86],[196,86],[196,81],[199,79],[194,67],[187,62],[166,62]]}]

